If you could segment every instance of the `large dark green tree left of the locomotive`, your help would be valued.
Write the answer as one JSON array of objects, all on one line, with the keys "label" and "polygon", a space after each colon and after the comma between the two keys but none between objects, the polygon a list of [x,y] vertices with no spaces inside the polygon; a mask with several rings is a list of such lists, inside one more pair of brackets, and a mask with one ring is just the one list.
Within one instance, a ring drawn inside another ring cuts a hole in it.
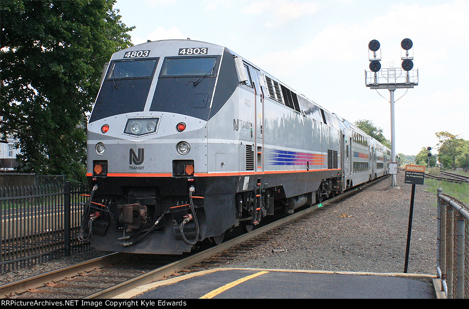
[{"label": "large dark green tree left of the locomotive", "polygon": [[0,1],[0,133],[19,138],[20,171],[84,179],[102,67],[131,45],[114,3]]}]

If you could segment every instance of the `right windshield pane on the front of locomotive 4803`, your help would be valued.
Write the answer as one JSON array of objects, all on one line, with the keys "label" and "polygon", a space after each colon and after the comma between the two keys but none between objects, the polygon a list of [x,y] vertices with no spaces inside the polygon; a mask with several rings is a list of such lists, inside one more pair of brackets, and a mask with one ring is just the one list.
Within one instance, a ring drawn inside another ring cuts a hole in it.
[{"label": "right windshield pane on the front of locomotive 4803", "polygon": [[160,77],[210,76],[214,74],[217,57],[166,58]]}]

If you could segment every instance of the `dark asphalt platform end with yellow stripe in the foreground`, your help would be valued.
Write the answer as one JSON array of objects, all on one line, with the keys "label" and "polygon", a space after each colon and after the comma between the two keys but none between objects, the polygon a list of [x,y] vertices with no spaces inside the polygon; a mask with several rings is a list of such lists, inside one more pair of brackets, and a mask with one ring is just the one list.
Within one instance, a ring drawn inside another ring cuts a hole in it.
[{"label": "dark asphalt platform end with yellow stripe in the foreground", "polygon": [[153,282],[121,299],[436,299],[436,276],[407,273],[216,268]]}]

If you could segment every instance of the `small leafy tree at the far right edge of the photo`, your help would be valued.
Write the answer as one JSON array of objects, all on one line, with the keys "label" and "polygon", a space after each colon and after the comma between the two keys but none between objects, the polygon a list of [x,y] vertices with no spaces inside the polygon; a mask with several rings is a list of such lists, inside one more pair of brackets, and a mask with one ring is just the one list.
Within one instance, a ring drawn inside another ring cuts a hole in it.
[{"label": "small leafy tree at the far right edge of the photo", "polygon": [[466,167],[467,159],[469,157],[469,141],[458,138],[458,135],[453,135],[449,132],[436,132],[439,142],[438,148],[438,161],[444,167],[452,167],[454,170],[457,167]]}]

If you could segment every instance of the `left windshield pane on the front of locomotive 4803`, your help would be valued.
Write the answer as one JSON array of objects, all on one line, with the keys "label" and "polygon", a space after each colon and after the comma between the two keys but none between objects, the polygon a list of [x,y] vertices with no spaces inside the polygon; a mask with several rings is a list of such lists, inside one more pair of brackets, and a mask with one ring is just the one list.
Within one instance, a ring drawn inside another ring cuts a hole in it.
[{"label": "left windshield pane on the front of locomotive 4803", "polygon": [[152,78],[157,63],[158,58],[114,61],[108,73],[108,80]]}]

